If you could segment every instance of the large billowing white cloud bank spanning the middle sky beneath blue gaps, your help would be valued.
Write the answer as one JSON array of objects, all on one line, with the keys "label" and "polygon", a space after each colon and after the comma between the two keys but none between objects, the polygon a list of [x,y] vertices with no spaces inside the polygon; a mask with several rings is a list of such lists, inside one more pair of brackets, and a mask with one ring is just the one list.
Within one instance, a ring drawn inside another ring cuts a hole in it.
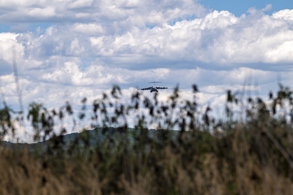
[{"label": "large billowing white cloud bank spanning the middle sky beneath blue gaps", "polygon": [[240,18],[228,11],[213,11],[174,24],[161,21],[154,28],[132,25],[126,31],[120,30],[121,34],[113,34],[109,31],[112,27],[103,23],[92,22],[51,26],[41,35],[10,36],[34,60],[52,55],[92,57],[117,67],[130,64],[127,68],[134,63],[164,67],[158,63],[162,61],[170,62],[168,67],[177,67],[178,61],[184,60],[189,63],[180,66],[185,68],[204,67],[206,63],[214,67],[226,64],[227,68],[243,63],[291,63],[293,24],[288,17],[289,11]]}]

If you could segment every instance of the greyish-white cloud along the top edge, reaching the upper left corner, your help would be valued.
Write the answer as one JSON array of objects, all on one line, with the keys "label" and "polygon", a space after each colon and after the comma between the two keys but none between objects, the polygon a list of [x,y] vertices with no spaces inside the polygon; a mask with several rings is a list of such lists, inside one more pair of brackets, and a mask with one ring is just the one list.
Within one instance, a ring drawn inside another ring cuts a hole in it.
[{"label": "greyish-white cloud along the top edge, reaching the upper left corner", "polygon": [[0,21],[39,22],[39,21],[108,21],[129,20],[132,24],[158,24],[177,20],[185,16],[200,16],[205,12],[204,6],[188,1],[8,1],[0,2],[5,8]]}]

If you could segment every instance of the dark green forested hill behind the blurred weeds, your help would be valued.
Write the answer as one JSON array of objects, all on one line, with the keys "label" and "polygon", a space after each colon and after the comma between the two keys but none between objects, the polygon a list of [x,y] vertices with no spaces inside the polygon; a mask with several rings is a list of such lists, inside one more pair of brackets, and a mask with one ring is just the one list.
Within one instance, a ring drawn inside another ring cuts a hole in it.
[{"label": "dark green forested hill behind the blurred weeds", "polygon": [[[177,130],[164,130],[164,129],[143,129],[136,130],[134,128],[114,128],[114,127],[99,127],[93,130],[86,130],[81,133],[70,133],[67,135],[59,135],[38,143],[11,143],[8,141],[1,141],[2,147],[8,147],[13,149],[28,148],[30,151],[44,151],[49,146],[51,147],[63,147],[64,150],[68,150],[73,145],[79,149],[84,147],[102,147],[105,139],[109,139],[113,143],[127,142],[130,148],[135,142],[145,142],[146,144],[155,141],[156,143],[164,143],[167,141],[175,141],[178,139],[180,131]],[[186,135],[190,137],[192,132],[186,132]],[[206,138],[214,138],[209,133],[199,132],[198,141]],[[143,139],[143,140],[142,140]]]}]

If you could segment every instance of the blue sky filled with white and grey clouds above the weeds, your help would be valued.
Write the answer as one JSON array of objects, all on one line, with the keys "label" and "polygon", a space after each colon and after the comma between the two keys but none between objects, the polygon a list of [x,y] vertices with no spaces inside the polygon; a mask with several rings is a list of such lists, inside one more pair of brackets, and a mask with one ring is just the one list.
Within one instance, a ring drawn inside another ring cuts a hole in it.
[{"label": "blue sky filled with white and grey clouds above the weeds", "polygon": [[[228,89],[265,99],[278,82],[292,87],[292,6],[283,0],[2,0],[1,100],[20,109],[12,48],[24,109],[33,101],[77,105],[85,96],[91,104],[114,84],[129,99],[153,81],[178,85],[181,97],[196,96],[202,107],[222,108]],[[159,92],[162,99],[170,93]]]}]

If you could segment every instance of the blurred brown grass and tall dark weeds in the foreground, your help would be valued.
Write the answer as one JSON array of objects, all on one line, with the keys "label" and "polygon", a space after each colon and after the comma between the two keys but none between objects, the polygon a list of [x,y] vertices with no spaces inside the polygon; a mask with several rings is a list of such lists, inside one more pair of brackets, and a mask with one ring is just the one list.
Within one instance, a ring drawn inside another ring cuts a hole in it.
[{"label": "blurred brown grass and tall dark weeds in the foreground", "polygon": [[[53,131],[55,120],[73,114],[69,103],[58,111],[31,104],[35,140],[50,140],[33,147],[2,142],[0,194],[292,194],[289,88],[280,86],[267,103],[241,102],[228,91],[222,119],[209,107],[200,113],[195,100],[179,101],[178,89],[167,103],[137,93],[125,105],[120,96],[114,86],[112,99],[104,94],[93,103],[91,120],[101,128],[71,137]],[[239,119],[234,107],[241,103]],[[135,115],[135,128],[128,128],[127,117],[139,108],[148,113]],[[11,111],[0,114],[3,136],[15,129]],[[148,130],[147,121],[166,128]]]}]

